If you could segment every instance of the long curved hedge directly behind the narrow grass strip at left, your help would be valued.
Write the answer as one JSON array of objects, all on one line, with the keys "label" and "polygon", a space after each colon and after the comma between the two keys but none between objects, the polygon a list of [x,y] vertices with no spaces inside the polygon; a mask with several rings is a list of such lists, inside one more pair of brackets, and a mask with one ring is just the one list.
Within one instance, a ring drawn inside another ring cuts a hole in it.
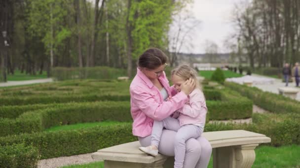
[{"label": "long curved hedge directly behind the narrow grass strip at left", "polygon": [[132,121],[129,102],[69,103],[33,112],[16,119],[0,119],[0,136],[34,133],[57,125],[96,121]]}]

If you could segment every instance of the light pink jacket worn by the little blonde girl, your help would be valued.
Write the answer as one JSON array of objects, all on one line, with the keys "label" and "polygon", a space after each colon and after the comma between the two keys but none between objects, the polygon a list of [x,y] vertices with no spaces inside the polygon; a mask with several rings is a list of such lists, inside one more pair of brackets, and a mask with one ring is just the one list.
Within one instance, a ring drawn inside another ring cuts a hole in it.
[{"label": "light pink jacket worn by the little blonde girl", "polygon": [[185,104],[179,109],[180,126],[186,124],[205,124],[207,107],[205,97],[200,89],[194,89],[189,95],[189,105]]}]

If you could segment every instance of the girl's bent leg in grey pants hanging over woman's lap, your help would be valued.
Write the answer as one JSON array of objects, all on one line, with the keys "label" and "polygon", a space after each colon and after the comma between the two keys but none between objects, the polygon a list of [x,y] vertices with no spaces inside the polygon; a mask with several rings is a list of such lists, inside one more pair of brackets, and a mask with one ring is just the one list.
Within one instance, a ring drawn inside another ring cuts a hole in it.
[{"label": "girl's bent leg in grey pants hanging over woman's lap", "polygon": [[[188,124],[182,126],[175,137],[175,164],[174,168],[183,168],[185,154],[186,154],[186,141],[190,138],[198,138],[202,133],[202,129],[198,126]],[[189,165],[188,165],[189,166]],[[186,167],[188,167],[186,166]],[[194,167],[195,165],[193,165]],[[190,166],[189,166],[190,167]]]}]

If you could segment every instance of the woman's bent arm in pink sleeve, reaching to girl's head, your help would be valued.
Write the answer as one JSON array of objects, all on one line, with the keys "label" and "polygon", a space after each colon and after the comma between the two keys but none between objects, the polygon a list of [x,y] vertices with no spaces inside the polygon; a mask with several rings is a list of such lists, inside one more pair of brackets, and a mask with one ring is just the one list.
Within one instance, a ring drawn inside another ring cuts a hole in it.
[{"label": "woman's bent arm in pink sleeve, reaching to girl's head", "polygon": [[155,98],[141,87],[130,88],[134,103],[147,116],[154,120],[163,120],[176,110],[182,108],[187,101],[187,95],[181,91],[170,100],[158,103]]}]

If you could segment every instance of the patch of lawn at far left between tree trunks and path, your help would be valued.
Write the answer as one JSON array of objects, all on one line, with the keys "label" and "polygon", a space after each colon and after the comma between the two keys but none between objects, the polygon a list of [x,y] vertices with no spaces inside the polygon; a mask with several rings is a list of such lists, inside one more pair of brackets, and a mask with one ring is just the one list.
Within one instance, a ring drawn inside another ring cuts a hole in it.
[{"label": "patch of lawn at far left between tree trunks and path", "polygon": [[37,75],[27,75],[25,72],[22,74],[21,71],[16,70],[14,75],[7,75],[7,81],[26,81],[26,80],[35,80],[35,79],[42,79],[47,78],[47,72],[43,71],[41,75],[37,72]]}]

